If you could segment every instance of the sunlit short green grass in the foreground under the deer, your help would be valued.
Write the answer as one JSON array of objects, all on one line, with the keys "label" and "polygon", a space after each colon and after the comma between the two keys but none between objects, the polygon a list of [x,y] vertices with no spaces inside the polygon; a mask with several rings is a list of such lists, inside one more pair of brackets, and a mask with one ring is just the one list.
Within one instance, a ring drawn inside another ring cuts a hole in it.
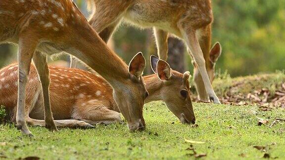
[{"label": "sunlit short green grass in the foreground under the deer", "polygon": [[[146,131],[131,133],[126,124],[100,125],[95,129],[30,127],[34,138],[22,136],[12,125],[0,125],[0,157],[37,156],[43,159],[257,159],[268,153],[285,159],[285,125],[258,126],[257,118],[285,118],[285,111],[262,112],[254,106],[193,103],[198,127],[181,124],[162,102],[144,106]],[[231,126],[231,127],[229,127]],[[185,138],[202,141],[190,144]],[[272,145],[272,143],[276,143]],[[265,146],[265,152],[253,146]],[[0,158],[0,159],[1,159]]]}]

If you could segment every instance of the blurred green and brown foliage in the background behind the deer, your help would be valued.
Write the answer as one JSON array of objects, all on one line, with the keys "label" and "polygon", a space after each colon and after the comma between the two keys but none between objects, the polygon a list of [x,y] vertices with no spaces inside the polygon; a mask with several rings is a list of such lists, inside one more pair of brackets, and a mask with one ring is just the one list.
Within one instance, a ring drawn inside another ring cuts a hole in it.
[{"label": "blurred green and brown foliage in the background behind the deer", "polygon": [[[88,16],[85,1],[76,2]],[[220,41],[223,48],[216,71],[227,71],[236,77],[285,69],[285,0],[212,0],[212,3],[213,43]],[[110,46],[127,63],[139,51],[144,55],[156,52],[151,30],[124,24],[110,40]],[[16,53],[16,46],[1,44],[0,67],[16,61]],[[185,58],[186,70],[192,72],[190,56]],[[65,61],[68,57],[59,59]]]}]

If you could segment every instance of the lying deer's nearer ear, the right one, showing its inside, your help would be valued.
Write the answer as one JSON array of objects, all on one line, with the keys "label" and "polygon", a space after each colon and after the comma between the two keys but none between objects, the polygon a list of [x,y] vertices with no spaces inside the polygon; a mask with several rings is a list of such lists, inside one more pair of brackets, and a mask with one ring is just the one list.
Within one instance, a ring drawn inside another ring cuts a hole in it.
[{"label": "lying deer's nearer ear, the right one, showing its inside", "polygon": [[171,77],[171,68],[164,60],[157,61],[156,71],[160,80],[169,80]]}]

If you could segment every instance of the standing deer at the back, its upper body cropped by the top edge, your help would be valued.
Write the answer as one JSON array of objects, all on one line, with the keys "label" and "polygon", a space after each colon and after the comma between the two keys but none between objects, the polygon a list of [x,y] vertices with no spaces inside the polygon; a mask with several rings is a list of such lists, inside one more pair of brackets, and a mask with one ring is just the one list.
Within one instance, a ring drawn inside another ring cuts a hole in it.
[{"label": "standing deer at the back, its upper body cropped by the top edge", "polygon": [[194,81],[200,99],[220,103],[211,85],[215,62],[221,54],[218,42],[210,52],[211,0],[88,1],[94,8],[89,22],[105,42],[122,19],[142,28],[153,27],[159,58],[165,61],[168,33],[183,39],[192,57]]}]

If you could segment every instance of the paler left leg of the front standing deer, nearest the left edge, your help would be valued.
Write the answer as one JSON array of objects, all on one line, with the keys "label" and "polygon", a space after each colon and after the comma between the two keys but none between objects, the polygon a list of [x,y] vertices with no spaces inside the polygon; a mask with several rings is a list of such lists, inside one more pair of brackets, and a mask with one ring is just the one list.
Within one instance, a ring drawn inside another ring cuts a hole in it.
[{"label": "paler left leg of the front standing deer, nearest the left edge", "polygon": [[19,48],[18,48],[18,101],[17,101],[17,115],[16,123],[17,128],[21,129],[24,135],[33,136],[30,132],[26,123],[26,85],[28,81],[28,75],[30,72],[30,65],[33,54],[35,52],[37,42],[31,40],[30,38],[19,38]]}]

